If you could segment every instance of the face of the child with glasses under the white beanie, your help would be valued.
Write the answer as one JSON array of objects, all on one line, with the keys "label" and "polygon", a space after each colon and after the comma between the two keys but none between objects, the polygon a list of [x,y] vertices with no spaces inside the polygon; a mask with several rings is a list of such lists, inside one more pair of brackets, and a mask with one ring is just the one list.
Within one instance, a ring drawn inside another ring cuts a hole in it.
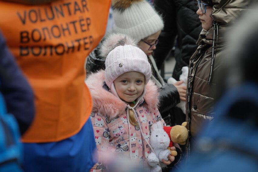
[{"label": "face of the child with glasses under the white beanie", "polygon": [[[143,40],[144,40],[145,42],[148,42],[149,44],[154,44],[155,41],[158,39],[158,36],[160,35],[160,32],[161,32],[161,31],[158,31],[158,32],[156,32],[156,33],[154,33],[154,34],[148,36],[147,38],[145,38],[145,39],[143,39]],[[156,46],[153,46],[153,47],[149,50],[150,45],[148,45],[148,44],[145,43],[145,42],[140,41],[140,42],[139,42],[139,48],[140,48],[143,52],[145,52],[145,54],[146,54],[147,56],[150,56],[151,53],[153,52],[153,50],[156,49]]]}]

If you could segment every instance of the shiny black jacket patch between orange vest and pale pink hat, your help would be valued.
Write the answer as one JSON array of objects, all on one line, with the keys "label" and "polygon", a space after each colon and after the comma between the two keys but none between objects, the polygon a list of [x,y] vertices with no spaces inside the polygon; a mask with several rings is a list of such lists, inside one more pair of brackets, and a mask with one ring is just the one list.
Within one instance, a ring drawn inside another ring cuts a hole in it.
[{"label": "shiny black jacket patch between orange vest and pale pink hat", "polygon": [[87,57],[86,71],[87,73],[96,72],[105,69],[105,59],[99,55],[99,47],[95,48]]}]

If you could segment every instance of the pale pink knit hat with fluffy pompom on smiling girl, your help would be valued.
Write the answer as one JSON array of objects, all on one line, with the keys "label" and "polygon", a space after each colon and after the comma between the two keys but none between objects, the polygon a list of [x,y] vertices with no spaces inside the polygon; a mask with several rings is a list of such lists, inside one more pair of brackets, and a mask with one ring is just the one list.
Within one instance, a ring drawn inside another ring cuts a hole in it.
[{"label": "pale pink knit hat with fluffy pompom on smiling girl", "polygon": [[104,38],[100,46],[101,55],[105,57],[107,54],[105,82],[115,94],[117,93],[114,90],[114,80],[123,73],[136,71],[144,74],[145,85],[151,78],[151,65],[148,62],[147,56],[135,45],[136,43],[131,37],[112,33]]}]

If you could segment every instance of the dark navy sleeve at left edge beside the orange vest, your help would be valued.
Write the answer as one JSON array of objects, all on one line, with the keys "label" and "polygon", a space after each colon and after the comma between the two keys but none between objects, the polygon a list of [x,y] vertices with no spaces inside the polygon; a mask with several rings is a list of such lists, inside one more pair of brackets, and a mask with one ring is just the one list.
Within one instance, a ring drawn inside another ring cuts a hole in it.
[{"label": "dark navy sleeve at left edge beside the orange vest", "polygon": [[23,134],[34,118],[34,94],[27,79],[17,66],[0,32],[0,90],[8,113],[12,113]]}]

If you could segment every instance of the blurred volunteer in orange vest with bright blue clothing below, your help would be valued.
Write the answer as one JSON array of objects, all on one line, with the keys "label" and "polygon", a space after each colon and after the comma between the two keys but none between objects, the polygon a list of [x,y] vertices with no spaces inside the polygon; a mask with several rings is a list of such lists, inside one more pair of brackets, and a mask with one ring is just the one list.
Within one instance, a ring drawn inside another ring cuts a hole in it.
[{"label": "blurred volunteer in orange vest with bright blue clothing below", "polygon": [[104,35],[111,1],[14,1],[0,1],[0,28],[36,104],[22,136],[24,169],[89,171],[97,150],[83,64]]}]

